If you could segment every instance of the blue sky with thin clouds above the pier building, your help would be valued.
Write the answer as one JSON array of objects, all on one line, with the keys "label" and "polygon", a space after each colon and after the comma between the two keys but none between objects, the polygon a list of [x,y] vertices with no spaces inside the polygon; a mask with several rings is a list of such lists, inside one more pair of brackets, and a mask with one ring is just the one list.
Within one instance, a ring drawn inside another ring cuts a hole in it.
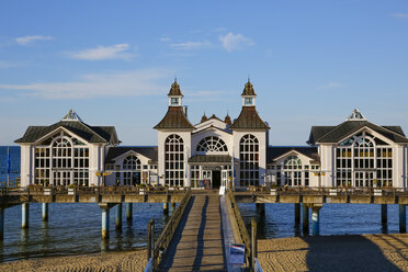
[{"label": "blue sky with thin clouds above the pier building", "polygon": [[271,145],[354,107],[408,133],[408,2],[0,2],[0,145],[69,109],[157,145],[174,76],[194,124],[237,117],[250,76]]}]

